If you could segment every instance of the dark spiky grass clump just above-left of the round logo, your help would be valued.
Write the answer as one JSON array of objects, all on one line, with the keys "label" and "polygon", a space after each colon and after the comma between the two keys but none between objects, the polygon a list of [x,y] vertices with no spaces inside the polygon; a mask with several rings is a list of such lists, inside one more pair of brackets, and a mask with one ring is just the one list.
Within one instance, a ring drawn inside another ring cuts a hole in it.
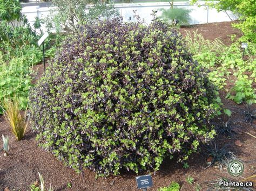
[{"label": "dark spiky grass clump just above-left of the round logo", "polygon": [[216,143],[212,142],[205,146],[205,154],[208,157],[212,157],[211,164],[209,164],[206,168],[217,165],[220,169],[223,169],[224,166],[227,166],[228,163],[234,160],[235,154],[228,149],[230,145],[224,145],[220,147]]}]

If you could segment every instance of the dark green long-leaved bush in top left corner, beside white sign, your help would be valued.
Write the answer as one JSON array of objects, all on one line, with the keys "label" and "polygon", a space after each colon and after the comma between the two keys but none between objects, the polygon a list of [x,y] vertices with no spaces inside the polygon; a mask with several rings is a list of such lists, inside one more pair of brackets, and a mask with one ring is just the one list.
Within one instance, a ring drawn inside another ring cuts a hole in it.
[{"label": "dark green long-leaved bush in top left corner, beside white sign", "polygon": [[[39,36],[36,36],[36,29],[41,25],[36,19],[35,29],[32,29],[28,20],[22,16],[21,9],[17,0],[0,1],[0,51],[4,52],[5,60],[22,56],[26,51],[31,51],[30,47],[37,47]],[[37,52],[38,49],[35,54]]]}]

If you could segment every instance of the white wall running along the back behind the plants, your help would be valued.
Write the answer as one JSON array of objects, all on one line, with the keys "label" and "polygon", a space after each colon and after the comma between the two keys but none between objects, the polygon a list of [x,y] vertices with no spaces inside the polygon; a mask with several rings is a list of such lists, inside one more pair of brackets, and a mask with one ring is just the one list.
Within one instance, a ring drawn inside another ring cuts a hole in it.
[{"label": "white wall running along the back behind the plants", "polygon": [[[190,9],[190,24],[204,24],[214,22],[227,22],[237,19],[237,16],[231,12],[217,12],[215,9],[210,9],[204,1],[199,2],[201,5],[190,5],[189,2],[174,2],[174,7]],[[158,3],[130,3],[130,4],[115,4],[115,8],[120,12],[120,15],[124,17],[125,22],[134,21],[133,10],[137,10],[137,14],[140,18],[144,19],[148,24],[152,20],[152,10],[157,11],[157,15],[161,15],[159,9],[169,9],[170,4],[168,2]],[[50,13],[50,9],[54,8],[40,8],[39,6],[25,6],[22,9],[22,13],[26,15],[29,22],[33,24],[35,17],[45,18]],[[228,14],[228,15],[227,15]],[[131,18],[131,20],[130,20]],[[31,25],[32,26],[32,25]],[[44,30],[44,27],[43,27]]]}]

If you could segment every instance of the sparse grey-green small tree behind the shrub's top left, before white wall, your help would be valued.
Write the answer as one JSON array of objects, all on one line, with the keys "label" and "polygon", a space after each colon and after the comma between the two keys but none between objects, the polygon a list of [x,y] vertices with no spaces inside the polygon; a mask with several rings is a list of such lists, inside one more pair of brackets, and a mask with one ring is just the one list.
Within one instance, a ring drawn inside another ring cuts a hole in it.
[{"label": "sparse grey-green small tree behind the shrub's top left, before white wall", "polygon": [[113,4],[97,0],[52,0],[57,11],[52,10],[50,17],[45,19],[48,29],[57,31],[75,31],[78,24],[90,23],[102,18],[118,16]]}]

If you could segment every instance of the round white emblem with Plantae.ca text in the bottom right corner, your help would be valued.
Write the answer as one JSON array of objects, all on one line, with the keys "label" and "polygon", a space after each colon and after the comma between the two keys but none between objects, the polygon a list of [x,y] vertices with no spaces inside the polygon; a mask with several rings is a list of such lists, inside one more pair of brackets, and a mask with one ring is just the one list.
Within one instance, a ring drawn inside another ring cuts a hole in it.
[{"label": "round white emblem with Plantae.ca text in the bottom right corner", "polygon": [[[232,160],[228,166],[227,171],[230,173],[230,175],[238,177],[244,173],[244,164],[239,160]],[[244,181],[250,180],[250,178],[244,179]],[[219,181],[220,187],[253,187],[252,181],[228,181],[226,179]]]}]

